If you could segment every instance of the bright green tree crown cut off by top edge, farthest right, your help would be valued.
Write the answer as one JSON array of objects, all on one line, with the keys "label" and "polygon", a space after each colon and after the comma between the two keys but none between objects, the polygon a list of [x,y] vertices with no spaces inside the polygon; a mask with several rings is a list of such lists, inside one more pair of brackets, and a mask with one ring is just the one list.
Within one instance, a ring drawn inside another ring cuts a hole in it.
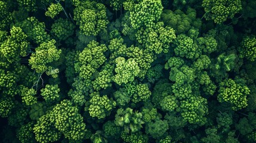
[{"label": "bright green tree crown cut off by top edge, farthest right", "polygon": [[203,0],[202,7],[205,9],[206,20],[214,20],[215,23],[223,23],[227,18],[233,18],[236,13],[242,10],[240,0]]}]

